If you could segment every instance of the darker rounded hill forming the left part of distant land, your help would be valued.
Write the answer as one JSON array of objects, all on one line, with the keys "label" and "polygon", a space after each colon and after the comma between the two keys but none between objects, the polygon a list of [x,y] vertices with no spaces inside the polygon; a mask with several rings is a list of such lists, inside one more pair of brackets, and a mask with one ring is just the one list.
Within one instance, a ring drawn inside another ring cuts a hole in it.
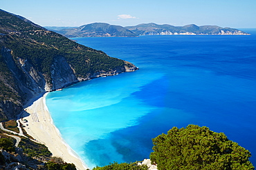
[{"label": "darker rounded hill forming the left part of distant land", "polygon": [[91,23],[82,25],[79,28],[55,30],[68,38],[71,37],[101,37],[101,36],[137,36],[134,32],[119,25],[108,23]]}]

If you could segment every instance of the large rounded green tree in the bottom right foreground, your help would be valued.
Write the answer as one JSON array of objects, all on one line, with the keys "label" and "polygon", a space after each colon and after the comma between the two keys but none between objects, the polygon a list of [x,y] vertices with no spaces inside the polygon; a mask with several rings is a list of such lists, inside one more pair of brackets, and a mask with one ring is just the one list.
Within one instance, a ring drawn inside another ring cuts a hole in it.
[{"label": "large rounded green tree in the bottom right foreground", "polygon": [[163,169],[254,169],[250,151],[208,127],[173,127],[153,139],[150,159]]}]

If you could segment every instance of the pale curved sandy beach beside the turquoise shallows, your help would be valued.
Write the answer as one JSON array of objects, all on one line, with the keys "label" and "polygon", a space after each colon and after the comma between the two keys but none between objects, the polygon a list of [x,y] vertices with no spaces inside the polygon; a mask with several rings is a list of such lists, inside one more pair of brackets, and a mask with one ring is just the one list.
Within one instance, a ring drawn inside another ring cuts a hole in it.
[{"label": "pale curved sandy beach beside the turquoise shallows", "polygon": [[53,156],[61,157],[64,162],[75,164],[77,170],[88,169],[75,151],[64,142],[60,131],[53,124],[53,119],[46,106],[46,95],[47,93],[26,107],[21,115],[23,120],[28,120],[27,123],[21,120],[21,123],[26,126],[24,129],[35,140],[46,145]]}]

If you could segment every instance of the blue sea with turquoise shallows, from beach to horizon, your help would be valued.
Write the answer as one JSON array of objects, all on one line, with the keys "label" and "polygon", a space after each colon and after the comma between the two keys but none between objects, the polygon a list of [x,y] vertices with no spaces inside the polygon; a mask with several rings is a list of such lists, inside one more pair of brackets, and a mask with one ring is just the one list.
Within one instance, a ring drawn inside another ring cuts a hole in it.
[{"label": "blue sea with turquoise shallows, from beach to horizon", "polygon": [[152,138],[190,124],[223,132],[256,165],[256,30],[250,36],[75,38],[140,70],[51,92],[46,104],[89,167],[149,158]]}]

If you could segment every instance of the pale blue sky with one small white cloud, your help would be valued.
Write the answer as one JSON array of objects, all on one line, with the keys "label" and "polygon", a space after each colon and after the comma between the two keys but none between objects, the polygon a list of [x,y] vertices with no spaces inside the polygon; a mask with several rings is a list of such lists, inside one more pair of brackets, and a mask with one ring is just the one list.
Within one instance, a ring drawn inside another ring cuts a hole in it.
[{"label": "pale blue sky with one small white cloud", "polygon": [[256,0],[0,0],[0,6],[42,26],[102,22],[256,28]]}]

